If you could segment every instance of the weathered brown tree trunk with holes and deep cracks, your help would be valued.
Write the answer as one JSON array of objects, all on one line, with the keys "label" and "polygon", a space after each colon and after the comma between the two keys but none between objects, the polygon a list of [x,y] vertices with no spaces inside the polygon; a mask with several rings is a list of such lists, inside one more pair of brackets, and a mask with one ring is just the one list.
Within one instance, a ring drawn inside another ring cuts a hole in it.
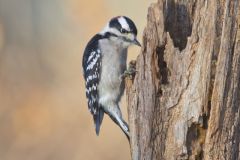
[{"label": "weathered brown tree trunk with holes and deep cracks", "polygon": [[240,159],[239,0],[150,6],[126,80],[133,160]]}]

